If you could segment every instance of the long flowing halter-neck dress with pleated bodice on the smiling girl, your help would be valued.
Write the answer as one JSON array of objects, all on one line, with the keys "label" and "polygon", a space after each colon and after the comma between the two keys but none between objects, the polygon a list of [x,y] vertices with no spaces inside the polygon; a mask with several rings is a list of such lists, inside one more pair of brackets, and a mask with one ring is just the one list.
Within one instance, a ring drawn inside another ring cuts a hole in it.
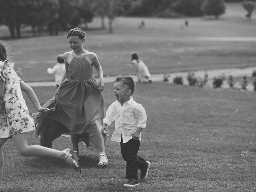
[{"label": "long flowing halter-neck dress with pleated bodice on the smiling girl", "polygon": [[[98,66],[95,66],[96,68]],[[83,135],[86,146],[97,151],[104,151],[104,138],[101,134],[103,118],[106,114],[106,104],[102,92],[98,92],[98,84],[93,78],[93,68],[86,57],[80,63],[75,57],[68,66],[69,77],[61,82],[54,97],[43,107],[55,108],[54,112],[33,114],[36,129],[41,134],[52,132],[46,124],[39,123],[44,119],[61,123],[56,130]],[[49,126],[51,121],[47,123]],[[54,124],[54,122],[53,122]],[[62,126],[62,127],[60,127]]]}]

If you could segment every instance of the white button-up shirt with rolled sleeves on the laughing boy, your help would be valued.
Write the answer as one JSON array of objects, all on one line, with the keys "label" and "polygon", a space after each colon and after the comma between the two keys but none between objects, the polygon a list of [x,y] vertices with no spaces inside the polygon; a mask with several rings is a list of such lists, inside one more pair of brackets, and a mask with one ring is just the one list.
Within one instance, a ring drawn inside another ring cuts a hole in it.
[{"label": "white button-up shirt with rolled sleeves on the laughing boy", "polygon": [[[125,102],[123,106],[116,100],[108,107],[103,123],[110,126],[114,120],[115,131],[111,140],[121,142],[122,134],[123,143],[126,143],[132,139],[132,134],[136,131],[137,127],[146,127],[147,115],[142,105],[136,103],[130,97],[130,100]],[[141,133],[139,140],[141,140]]]}]

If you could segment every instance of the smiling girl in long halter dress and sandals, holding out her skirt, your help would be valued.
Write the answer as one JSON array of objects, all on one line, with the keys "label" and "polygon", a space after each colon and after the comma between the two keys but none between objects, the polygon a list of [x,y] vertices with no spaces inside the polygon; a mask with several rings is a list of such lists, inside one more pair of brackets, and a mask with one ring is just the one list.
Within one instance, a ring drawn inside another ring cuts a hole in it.
[{"label": "smiling girl in long halter dress and sandals, holding out her skirt", "polygon": [[[101,134],[106,113],[102,94],[104,78],[97,55],[83,48],[85,37],[85,32],[78,27],[68,32],[68,43],[72,51],[62,55],[66,72],[54,97],[44,104],[44,107],[54,107],[56,110],[33,116],[36,129],[40,130],[41,144],[51,146],[52,141],[66,133],[68,128],[75,157],[79,160],[78,142],[83,141],[87,147],[98,152],[98,166],[104,167],[108,165]],[[100,78],[98,83],[93,78],[93,67]]]}]

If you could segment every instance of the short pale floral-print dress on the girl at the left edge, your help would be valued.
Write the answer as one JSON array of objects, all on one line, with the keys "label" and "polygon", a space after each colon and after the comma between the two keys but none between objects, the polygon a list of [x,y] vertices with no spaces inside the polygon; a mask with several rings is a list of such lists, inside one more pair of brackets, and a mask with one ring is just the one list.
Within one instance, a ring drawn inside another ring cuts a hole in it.
[{"label": "short pale floral-print dress on the girl at the left edge", "polygon": [[0,100],[0,138],[34,130],[34,120],[20,89],[24,81],[8,60],[0,61],[0,80],[4,81],[4,98]]}]

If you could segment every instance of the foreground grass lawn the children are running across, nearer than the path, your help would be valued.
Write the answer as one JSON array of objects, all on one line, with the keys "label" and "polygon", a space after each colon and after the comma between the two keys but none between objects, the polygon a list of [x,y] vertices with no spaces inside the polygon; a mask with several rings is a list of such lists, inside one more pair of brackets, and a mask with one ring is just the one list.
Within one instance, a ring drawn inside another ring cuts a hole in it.
[{"label": "foreground grass lawn the children are running across, nearer than the path", "polygon": [[[34,88],[46,102],[54,87]],[[109,106],[115,99],[106,84]],[[109,166],[97,167],[98,155],[80,145],[82,174],[58,159],[20,157],[8,140],[3,146],[6,191],[159,191],[252,192],[256,190],[254,92],[200,89],[164,83],[137,84],[134,99],[148,115],[139,155],[152,163],[149,178],[124,188],[125,162],[118,143],[106,142]],[[26,98],[26,97],[25,97]],[[26,98],[28,101],[28,99]],[[35,112],[27,102],[30,113]],[[110,132],[113,129],[110,128]],[[29,144],[38,144],[31,133]],[[70,148],[69,138],[54,148]]]}]

